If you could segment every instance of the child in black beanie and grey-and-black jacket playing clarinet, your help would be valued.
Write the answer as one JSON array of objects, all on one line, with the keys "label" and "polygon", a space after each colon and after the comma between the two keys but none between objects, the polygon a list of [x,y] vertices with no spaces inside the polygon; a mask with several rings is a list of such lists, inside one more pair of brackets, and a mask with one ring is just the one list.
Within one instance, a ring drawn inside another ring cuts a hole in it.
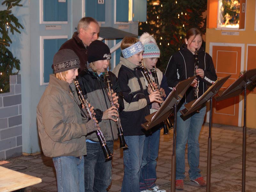
[{"label": "child in black beanie and grey-and-black jacket playing clarinet", "polygon": [[[79,73],[78,81],[80,87],[89,98],[90,103],[95,108],[96,119],[103,135],[107,141],[107,146],[113,153],[114,140],[117,139],[116,119],[117,108],[111,107],[108,98],[108,86],[104,82],[104,71],[108,68],[111,53],[108,45],[95,40],[87,50],[89,69]],[[112,72],[108,72],[112,88],[114,90],[114,104],[118,105],[118,96],[116,92],[120,92],[117,84],[117,78]],[[105,162],[105,156],[101,150],[100,143],[95,134],[86,137],[87,156],[84,160],[84,182],[85,191],[107,191],[111,183],[111,161]]]}]

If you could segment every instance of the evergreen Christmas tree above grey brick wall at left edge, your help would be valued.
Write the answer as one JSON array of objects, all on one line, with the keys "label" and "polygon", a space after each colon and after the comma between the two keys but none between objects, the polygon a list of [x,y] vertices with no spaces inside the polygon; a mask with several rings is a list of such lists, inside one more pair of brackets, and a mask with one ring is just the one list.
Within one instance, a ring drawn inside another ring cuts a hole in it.
[{"label": "evergreen Christmas tree above grey brick wall at left edge", "polygon": [[[2,5],[5,4],[6,10],[0,11],[0,93],[10,91],[10,75],[15,75],[20,70],[20,60],[12,55],[12,52],[7,48],[12,43],[8,32],[12,35],[14,31],[20,33],[19,28],[22,25],[19,23],[17,17],[12,14],[12,7],[22,6],[21,0],[5,0]],[[13,69],[16,68],[18,72],[13,73]]]}]

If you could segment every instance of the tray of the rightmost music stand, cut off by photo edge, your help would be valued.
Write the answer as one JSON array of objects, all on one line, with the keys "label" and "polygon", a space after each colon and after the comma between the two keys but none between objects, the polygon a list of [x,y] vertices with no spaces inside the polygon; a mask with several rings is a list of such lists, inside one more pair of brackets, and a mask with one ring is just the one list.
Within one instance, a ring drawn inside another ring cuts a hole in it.
[{"label": "tray of the rightmost music stand, cut off by photo edge", "polygon": [[256,68],[247,70],[243,75],[241,75],[233,84],[231,84],[227,89],[219,91],[214,99],[216,101],[228,99],[240,95],[244,91],[244,85],[248,86],[256,79]]}]

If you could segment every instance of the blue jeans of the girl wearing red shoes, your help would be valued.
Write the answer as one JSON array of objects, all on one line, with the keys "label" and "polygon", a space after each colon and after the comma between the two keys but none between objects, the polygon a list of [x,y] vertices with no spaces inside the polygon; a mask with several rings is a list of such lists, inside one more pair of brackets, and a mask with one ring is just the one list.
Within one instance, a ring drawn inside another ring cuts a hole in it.
[{"label": "blue jeans of the girl wearing red shoes", "polygon": [[[186,104],[186,103],[185,103]],[[200,175],[199,166],[199,134],[204,123],[206,106],[200,109],[200,113],[192,114],[184,120],[181,118],[180,110],[177,113],[177,138],[176,138],[176,180],[185,179],[185,148],[188,142],[188,165],[189,179],[195,180]]]}]

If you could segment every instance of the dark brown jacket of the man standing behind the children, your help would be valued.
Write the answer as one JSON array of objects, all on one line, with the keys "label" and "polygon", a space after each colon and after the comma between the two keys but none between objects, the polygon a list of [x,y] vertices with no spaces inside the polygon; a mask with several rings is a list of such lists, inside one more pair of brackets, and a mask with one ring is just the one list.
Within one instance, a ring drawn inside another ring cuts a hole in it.
[{"label": "dark brown jacket of the man standing behind the children", "polygon": [[78,33],[75,32],[71,39],[61,45],[61,49],[73,50],[80,60],[80,71],[84,68],[87,69],[87,47],[84,46],[83,41],[78,37]]}]

